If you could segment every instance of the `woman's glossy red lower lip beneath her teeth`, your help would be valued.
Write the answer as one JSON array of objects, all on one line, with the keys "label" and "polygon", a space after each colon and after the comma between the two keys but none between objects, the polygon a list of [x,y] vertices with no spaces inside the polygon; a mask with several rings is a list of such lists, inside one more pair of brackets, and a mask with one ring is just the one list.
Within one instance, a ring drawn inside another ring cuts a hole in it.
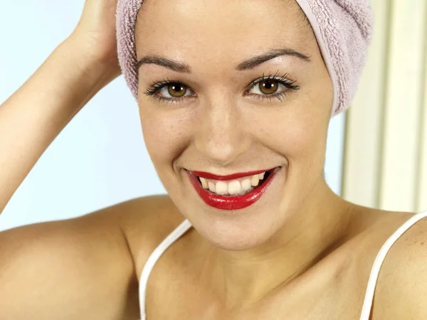
[{"label": "woman's glossy red lower lip beneath her teeth", "polygon": [[211,193],[210,191],[206,190],[201,186],[201,184],[199,183],[199,178],[197,176],[192,174],[190,171],[187,171],[187,173],[189,174],[191,184],[196,189],[200,198],[207,205],[221,210],[238,210],[247,208],[248,206],[251,206],[253,203],[258,201],[261,196],[263,196],[268,186],[270,186],[270,183],[271,181],[273,181],[273,178],[275,177],[275,174],[278,170],[279,168],[275,168],[270,171],[270,176],[268,176],[267,180],[265,180],[262,186],[260,186],[259,188],[255,188],[253,191],[247,193],[244,196],[234,197],[218,196],[215,193]]}]

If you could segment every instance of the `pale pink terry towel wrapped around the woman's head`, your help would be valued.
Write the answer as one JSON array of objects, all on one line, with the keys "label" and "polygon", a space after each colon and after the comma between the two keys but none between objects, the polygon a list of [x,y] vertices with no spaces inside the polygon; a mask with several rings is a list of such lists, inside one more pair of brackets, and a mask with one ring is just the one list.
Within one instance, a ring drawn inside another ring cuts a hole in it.
[{"label": "pale pink terry towel wrapped around the woman's head", "polygon": [[[371,41],[369,0],[296,0],[317,38],[334,87],[331,117],[347,110],[357,90]],[[117,51],[127,85],[138,97],[135,23],[142,0],[118,0]]]}]

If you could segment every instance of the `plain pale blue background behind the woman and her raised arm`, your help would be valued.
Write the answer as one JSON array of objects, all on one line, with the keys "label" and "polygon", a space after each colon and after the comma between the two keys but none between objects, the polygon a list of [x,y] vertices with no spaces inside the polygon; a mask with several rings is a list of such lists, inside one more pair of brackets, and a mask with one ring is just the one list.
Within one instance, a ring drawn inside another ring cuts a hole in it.
[{"label": "plain pale blue background behind the woman and her raised arm", "polygon": [[[1,0],[0,103],[78,23],[83,0]],[[334,117],[326,178],[340,193],[344,114]],[[72,218],[130,198],[166,193],[142,139],[122,76],[88,102],[46,149],[0,215],[0,230]]]}]

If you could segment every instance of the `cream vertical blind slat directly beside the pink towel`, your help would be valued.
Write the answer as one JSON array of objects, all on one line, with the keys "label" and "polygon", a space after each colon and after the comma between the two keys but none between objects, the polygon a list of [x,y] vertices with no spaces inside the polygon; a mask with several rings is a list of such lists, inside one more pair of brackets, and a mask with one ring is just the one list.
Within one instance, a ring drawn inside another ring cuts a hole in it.
[{"label": "cream vertical blind slat directly beside the pink towel", "polygon": [[376,207],[390,1],[372,1],[371,5],[375,15],[374,38],[357,95],[347,111],[342,191],[350,201]]}]

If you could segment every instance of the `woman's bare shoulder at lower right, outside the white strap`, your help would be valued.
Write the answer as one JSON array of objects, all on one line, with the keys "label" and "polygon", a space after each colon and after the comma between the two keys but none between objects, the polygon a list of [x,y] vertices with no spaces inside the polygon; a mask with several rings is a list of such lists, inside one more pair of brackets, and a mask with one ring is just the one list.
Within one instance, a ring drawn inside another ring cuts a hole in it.
[{"label": "woman's bare shoulder at lower right, outside the white strap", "polygon": [[427,219],[412,225],[391,247],[379,273],[373,306],[373,320],[426,319]]}]

